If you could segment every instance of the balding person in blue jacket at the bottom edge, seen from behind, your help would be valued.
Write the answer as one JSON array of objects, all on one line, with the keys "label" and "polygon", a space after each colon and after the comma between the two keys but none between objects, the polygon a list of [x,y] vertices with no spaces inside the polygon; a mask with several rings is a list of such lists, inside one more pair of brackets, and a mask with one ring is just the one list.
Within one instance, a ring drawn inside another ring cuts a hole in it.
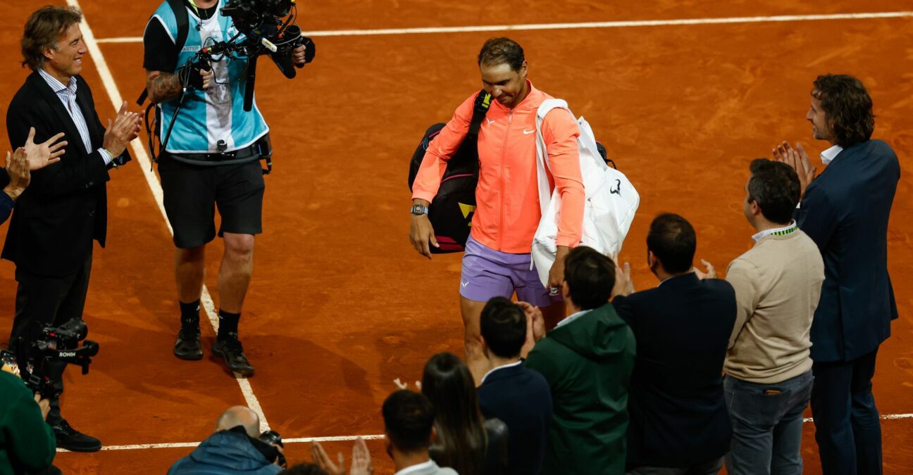
[{"label": "balding person in blue jacket at the bottom edge, seen from behind", "polygon": [[274,475],[282,471],[281,448],[257,440],[259,426],[256,412],[244,406],[228,408],[219,416],[215,433],[174,462],[168,475]]}]

